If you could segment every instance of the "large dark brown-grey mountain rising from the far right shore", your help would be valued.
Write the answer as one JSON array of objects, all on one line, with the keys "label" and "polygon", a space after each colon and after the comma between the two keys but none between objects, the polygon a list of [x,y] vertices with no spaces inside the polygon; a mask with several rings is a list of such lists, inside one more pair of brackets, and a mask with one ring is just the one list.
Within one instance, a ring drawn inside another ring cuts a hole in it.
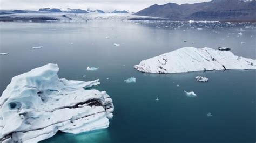
[{"label": "large dark brown-grey mountain rising from the far right shore", "polygon": [[213,0],[211,2],[154,4],[135,15],[170,20],[256,21],[256,0]]}]

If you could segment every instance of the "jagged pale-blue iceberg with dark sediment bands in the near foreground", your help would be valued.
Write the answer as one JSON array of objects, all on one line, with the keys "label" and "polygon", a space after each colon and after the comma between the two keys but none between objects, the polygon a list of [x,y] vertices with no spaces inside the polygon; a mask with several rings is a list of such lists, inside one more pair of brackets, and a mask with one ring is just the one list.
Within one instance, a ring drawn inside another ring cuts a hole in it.
[{"label": "jagged pale-blue iceberg with dark sediment bands in the near foreground", "polygon": [[0,142],[38,142],[57,131],[81,133],[107,128],[114,106],[99,85],[59,78],[57,65],[12,78],[0,98]]}]

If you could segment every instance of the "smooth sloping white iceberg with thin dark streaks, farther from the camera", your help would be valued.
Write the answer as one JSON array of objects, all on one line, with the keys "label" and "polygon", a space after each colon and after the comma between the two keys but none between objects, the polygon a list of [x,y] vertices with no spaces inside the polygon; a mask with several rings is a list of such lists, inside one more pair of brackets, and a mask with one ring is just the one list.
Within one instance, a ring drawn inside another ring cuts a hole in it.
[{"label": "smooth sloping white iceberg with thin dark streaks, farther from the camera", "polygon": [[191,71],[256,69],[256,60],[234,55],[230,51],[184,47],[141,61],[134,66],[143,73],[187,73]]}]

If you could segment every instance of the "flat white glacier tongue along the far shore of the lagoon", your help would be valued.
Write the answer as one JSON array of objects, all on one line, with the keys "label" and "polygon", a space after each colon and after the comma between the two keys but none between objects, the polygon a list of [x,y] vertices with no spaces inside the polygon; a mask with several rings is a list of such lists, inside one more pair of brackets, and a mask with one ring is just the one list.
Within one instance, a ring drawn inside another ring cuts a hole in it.
[{"label": "flat white glacier tongue along the far shore of the lagoon", "polygon": [[65,12],[28,12],[0,15],[3,22],[87,22],[91,20],[161,20],[165,18],[136,16],[132,13],[65,13]]}]

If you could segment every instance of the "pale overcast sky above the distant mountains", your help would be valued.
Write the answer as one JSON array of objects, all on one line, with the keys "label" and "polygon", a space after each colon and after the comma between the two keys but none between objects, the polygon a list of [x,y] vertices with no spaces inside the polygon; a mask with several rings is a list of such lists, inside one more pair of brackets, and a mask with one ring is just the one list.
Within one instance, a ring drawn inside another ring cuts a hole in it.
[{"label": "pale overcast sky above the distant mountains", "polygon": [[211,0],[0,0],[0,9],[38,10],[39,8],[71,8],[102,10],[130,10],[137,12],[153,4],[165,3],[198,3]]}]

